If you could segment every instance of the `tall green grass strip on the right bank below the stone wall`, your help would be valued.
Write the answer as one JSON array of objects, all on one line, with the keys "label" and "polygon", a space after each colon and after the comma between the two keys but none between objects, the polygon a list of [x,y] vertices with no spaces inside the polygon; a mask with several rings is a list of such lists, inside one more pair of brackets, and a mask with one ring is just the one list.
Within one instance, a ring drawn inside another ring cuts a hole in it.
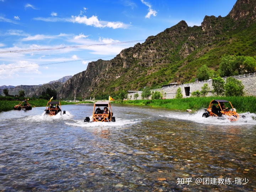
[{"label": "tall green grass strip on the right bank below the stone wall", "polygon": [[256,97],[188,97],[181,99],[159,99],[159,100],[126,100],[123,104],[130,105],[145,105],[151,107],[162,107],[170,110],[198,111],[203,108],[208,108],[212,100],[227,100],[230,101],[236,111],[239,113],[256,113]]}]

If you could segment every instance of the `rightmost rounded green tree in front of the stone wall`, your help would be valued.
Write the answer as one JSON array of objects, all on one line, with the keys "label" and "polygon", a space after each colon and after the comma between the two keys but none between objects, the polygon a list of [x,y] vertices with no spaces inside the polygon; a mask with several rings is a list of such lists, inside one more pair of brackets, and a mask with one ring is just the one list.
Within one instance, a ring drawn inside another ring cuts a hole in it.
[{"label": "rightmost rounded green tree in front of the stone wall", "polygon": [[242,81],[233,77],[228,77],[225,84],[225,96],[243,96],[244,85]]}]

